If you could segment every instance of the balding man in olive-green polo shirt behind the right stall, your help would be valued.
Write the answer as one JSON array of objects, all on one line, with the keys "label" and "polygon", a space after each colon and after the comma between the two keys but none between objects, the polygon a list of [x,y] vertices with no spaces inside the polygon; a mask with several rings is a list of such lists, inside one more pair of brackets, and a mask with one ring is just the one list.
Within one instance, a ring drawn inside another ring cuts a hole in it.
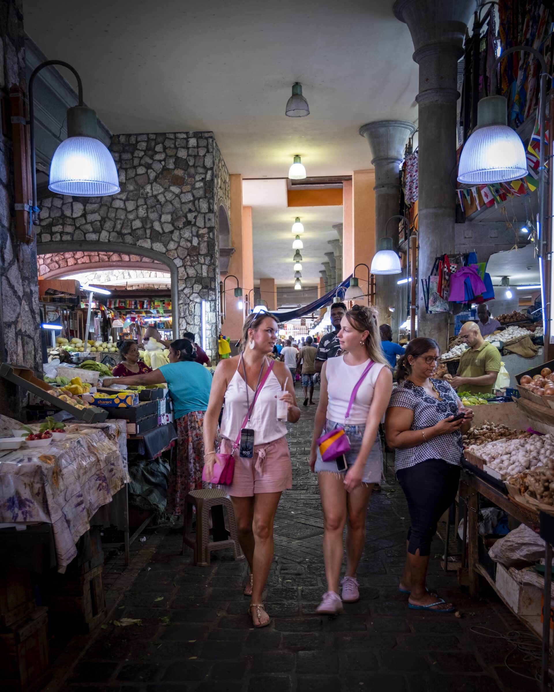
[{"label": "balding man in olive-green polo shirt behind the right stall", "polygon": [[500,370],[500,352],[481,336],[475,322],[465,322],[460,336],[469,348],[460,356],[460,365],[450,384],[470,394],[492,394]]}]

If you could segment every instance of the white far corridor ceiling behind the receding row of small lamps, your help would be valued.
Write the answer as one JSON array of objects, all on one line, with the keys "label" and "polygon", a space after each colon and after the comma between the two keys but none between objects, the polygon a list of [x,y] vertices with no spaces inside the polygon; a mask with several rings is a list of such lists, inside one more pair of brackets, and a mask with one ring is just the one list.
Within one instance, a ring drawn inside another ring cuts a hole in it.
[{"label": "white far corridor ceiling behind the receding row of small lamps", "polygon": [[276,209],[252,208],[254,282],[260,278],[275,279],[278,286],[294,285],[292,249],[294,235],[292,224],[300,217],[304,226],[301,240],[302,283],[305,286],[319,284],[321,262],[326,262],[324,253],[332,251],[328,240],[338,239],[334,224],[342,223],[342,207],[289,207]]}]

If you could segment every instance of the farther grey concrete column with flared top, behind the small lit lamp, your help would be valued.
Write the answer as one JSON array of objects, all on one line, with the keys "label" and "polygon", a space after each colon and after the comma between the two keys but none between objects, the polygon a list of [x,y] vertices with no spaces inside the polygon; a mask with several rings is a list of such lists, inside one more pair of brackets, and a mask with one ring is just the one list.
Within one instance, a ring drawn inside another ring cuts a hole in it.
[{"label": "farther grey concrete column with flared top, behind the small lit lamp", "polygon": [[[399,168],[404,158],[406,140],[415,131],[415,125],[404,120],[379,120],[368,122],[359,129],[359,134],[368,140],[375,166],[375,250],[379,240],[385,235],[396,241],[398,219],[386,226],[386,221],[400,210]],[[386,226],[386,231],[385,231]],[[379,324],[389,324],[393,329],[393,340],[397,340],[400,314],[400,291],[398,277],[392,275],[375,275],[375,302],[379,311]],[[397,309],[391,313],[388,306]],[[390,319],[390,322],[389,322]],[[402,320],[404,321],[404,320]]]}]

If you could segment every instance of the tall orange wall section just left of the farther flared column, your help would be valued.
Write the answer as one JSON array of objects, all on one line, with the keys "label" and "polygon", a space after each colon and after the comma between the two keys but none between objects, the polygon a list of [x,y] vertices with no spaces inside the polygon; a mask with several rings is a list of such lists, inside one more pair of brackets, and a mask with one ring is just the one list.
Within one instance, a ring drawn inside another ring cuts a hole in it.
[{"label": "tall orange wall section just left of the farther flared column", "polygon": [[[375,255],[375,172],[354,171],[352,174],[352,226],[354,264],[364,262],[371,266]],[[359,285],[367,291],[367,270],[360,267],[356,273]],[[348,274],[346,274],[348,276]]]}]

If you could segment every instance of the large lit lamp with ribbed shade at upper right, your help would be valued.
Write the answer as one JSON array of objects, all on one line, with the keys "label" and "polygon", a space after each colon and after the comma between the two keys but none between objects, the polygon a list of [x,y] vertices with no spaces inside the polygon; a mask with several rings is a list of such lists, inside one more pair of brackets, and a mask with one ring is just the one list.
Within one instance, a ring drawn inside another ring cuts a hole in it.
[{"label": "large lit lamp with ribbed shade at upper right", "polygon": [[508,102],[487,96],[477,104],[477,127],[465,143],[458,182],[467,185],[505,183],[527,175],[524,144],[508,127]]}]

